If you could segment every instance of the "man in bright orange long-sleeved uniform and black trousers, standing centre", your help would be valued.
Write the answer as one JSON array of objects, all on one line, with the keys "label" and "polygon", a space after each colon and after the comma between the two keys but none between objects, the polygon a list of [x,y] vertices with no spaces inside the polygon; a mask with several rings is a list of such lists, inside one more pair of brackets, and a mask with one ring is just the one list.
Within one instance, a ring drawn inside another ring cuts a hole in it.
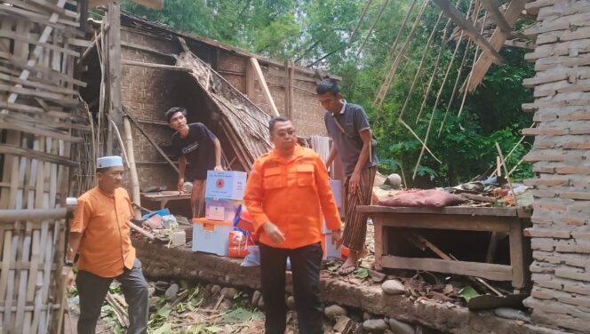
[{"label": "man in bright orange long-sleeved uniform and black trousers, standing centre", "polygon": [[319,155],[297,144],[287,118],[271,119],[268,131],[275,149],[256,160],[244,195],[260,235],[266,332],[283,334],[286,328],[285,270],[290,258],[299,333],[323,333],[319,289],[323,217],[333,242],[340,242],[340,217],[328,171]]}]

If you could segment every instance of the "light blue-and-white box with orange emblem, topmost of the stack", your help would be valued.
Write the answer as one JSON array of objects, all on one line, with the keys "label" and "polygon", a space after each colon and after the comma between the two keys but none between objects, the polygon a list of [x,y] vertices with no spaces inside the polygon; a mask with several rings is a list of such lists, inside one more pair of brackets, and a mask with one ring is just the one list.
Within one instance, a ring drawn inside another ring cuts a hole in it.
[{"label": "light blue-and-white box with orange emblem, topmost of the stack", "polygon": [[246,173],[243,171],[207,171],[207,199],[242,201],[245,188]]}]

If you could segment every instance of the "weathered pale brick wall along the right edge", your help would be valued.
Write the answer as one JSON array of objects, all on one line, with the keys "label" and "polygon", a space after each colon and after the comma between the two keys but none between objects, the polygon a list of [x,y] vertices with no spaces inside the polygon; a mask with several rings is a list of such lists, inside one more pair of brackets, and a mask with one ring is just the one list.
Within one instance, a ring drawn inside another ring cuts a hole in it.
[{"label": "weathered pale brick wall along the right edge", "polygon": [[525,159],[534,163],[531,237],[534,283],[525,305],[533,321],[578,332],[590,322],[590,6],[586,1],[527,4],[538,24],[525,30],[537,37],[537,74],[524,84],[535,89],[538,126]]}]

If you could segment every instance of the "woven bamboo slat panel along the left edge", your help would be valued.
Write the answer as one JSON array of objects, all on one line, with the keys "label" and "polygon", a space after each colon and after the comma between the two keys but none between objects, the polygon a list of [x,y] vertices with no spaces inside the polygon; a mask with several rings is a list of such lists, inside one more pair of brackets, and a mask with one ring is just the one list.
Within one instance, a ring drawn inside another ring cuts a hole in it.
[{"label": "woven bamboo slat panel along the left edge", "polygon": [[67,0],[0,1],[0,332],[55,332],[73,145],[80,15]]}]

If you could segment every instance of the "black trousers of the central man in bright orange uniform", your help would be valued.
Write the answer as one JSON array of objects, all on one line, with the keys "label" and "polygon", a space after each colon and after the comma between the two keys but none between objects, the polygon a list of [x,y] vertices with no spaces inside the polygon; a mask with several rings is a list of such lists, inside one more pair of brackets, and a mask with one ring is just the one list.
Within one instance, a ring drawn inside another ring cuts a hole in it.
[{"label": "black trousers of the central man in bright orange uniform", "polygon": [[295,310],[299,333],[323,333],[323,308],[320,299],[320,266],[322,245],[287,250],[260,243],[260,277],[265,305],[267,334],[283,334],[286,329],[285,271],[287,258],[291,260]]}]

